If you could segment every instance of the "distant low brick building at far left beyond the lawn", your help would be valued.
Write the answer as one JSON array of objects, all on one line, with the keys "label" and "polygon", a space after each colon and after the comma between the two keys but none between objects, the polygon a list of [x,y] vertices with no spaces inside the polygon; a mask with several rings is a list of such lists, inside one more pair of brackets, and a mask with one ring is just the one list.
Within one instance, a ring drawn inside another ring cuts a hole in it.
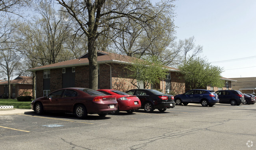
[{"label": "distant low brick building at far left beyond the lawn", "polygon": [[[18,76],[11,80],[11,98],[32,96],[32,77]],[[0,97],[8,96],[8,81],[0,81]]]}]

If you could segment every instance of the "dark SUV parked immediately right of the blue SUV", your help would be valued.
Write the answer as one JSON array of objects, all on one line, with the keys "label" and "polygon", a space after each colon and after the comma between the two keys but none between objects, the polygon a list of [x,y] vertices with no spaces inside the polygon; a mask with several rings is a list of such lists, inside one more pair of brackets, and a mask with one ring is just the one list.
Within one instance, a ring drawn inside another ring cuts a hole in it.
[{"label": "dark SUV parked immediately right of the blue SUV", "polygon": [[245,102],[243,93],[238,90],[219,90],[215,92],[219,96],[219,103],[240,105]]}]

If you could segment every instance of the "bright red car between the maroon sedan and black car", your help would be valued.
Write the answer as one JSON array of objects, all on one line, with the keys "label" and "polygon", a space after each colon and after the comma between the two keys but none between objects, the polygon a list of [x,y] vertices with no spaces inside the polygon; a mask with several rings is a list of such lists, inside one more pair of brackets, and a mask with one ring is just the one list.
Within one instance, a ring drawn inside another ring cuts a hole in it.
[{"label": "bright red car between the maroon sedan and black car", "polygon": [[128,113],[133,113],[135,110],[141,108],[141,101],[135,95],[129,95],[125,92],[118,90],[97,90],[107,95],[115,95],[118,102],[118,110],[115,111],[117,114],[119,111],[126,111]]}]

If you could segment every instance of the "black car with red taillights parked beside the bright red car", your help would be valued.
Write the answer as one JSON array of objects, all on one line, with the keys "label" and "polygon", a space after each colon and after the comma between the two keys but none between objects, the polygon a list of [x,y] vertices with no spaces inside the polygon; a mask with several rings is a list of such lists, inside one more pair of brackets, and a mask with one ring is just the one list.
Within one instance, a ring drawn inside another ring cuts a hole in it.
[{"label": "black car with red taillights parked beside the bright red car", "polygon": [[158,109],[164,112],[167,108],[174,108],[175,102],[173,95],[167,95],[152,89],[134,89],[126,91],[130,95],[136,95],[141,101],[141,108],[145,112],[153,112]]}]

